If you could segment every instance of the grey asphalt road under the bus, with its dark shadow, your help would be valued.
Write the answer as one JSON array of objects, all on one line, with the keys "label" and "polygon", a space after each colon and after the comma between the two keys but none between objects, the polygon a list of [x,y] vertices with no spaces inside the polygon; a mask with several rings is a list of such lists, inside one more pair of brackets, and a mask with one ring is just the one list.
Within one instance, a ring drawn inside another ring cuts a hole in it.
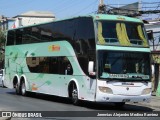
[{"label": "grey asphalt road under the bus, with its dark shadow", "polygon": [[[98,104],[91,102],[82,102],[80,106],[72,105],[71,101],[66,98],[60,98],[49,95],[30,95],[29,97],[23,97],[15,94],[15,90],[0,87],[0,111],[106,111],[106,112],[153,112],[160,111],[158,108],[149,108],[138,104],[126,104],[123,108],[117,108],[113,104]],[[74,113],[73,113],[74,114]],[[121,117],[122,120],[127,120],[127,117]],[[135,118],[135,117],[134,117]],[[12,118],[14,120],[14,118]],[[27,119],[27,118],[26,118]],[[52,118],[53,119],[53,118]],[[77,118],[54,118],[56,120],[69,120],[69,119],[82,119]],[[84,119],[84,118],[83,118]],[[86,119],[86,118],[85,118]],[[93,120],[92,117],[88,117],[87,120]],[[94,118],[106,119],[104,117]],[[117,119],[112,117],[110,119]],[[136,119],[142,119],[138,117]],[[150,118],[145,118],[149,120]],[[156,118],[158,120],[158,118]],[[17,120],[15,118],[15,120]],[[48,119],[47,119],[48,120]]]}]

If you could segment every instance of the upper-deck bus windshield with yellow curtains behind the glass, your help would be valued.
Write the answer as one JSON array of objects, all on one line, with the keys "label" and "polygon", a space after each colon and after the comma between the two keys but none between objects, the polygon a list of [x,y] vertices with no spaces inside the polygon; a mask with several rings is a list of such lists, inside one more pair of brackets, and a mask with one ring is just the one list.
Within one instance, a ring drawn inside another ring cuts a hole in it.
[{"label": "upper-deck bus windshield with yellow curtains behind the glass", "polygon": [[148,47],[148,41],[142,23],[98,21],[97,29],[97,44]]}]

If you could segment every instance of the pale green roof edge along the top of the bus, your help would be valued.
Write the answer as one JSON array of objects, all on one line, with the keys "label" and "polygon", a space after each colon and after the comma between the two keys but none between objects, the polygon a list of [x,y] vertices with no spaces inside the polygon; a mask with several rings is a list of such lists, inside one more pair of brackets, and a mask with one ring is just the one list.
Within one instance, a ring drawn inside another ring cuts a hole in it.
[{"label": "pale green roof edge along the top of the bus", "polygon": [[132,18],[132,17],[126,17],[126,16],[122,16],[122,15],[92,14],[92,15],[85,15],[85,16],[76,16],[76,17],[71,17],[71,18],[66,18],[66,19],[59,19],[59,20],[54,20],[54,21],[44,22],[44,23],[39,23],[39,24],[34,24],[34,25],[21,26],[21,27],[12,28],[12,29],[9,29],[9,30],[32,27],[32,26],[37,26],[37,25],[43,25],[43,24],[53,23],[53,22],[58,22],[58,21],[65,21],[65,20],[70,20],[70,19],[75,19],[75,18],[80,18],[80,17],[92,17],[94,20],[117,20],[117,21],[129,21],[129,22],[143,23],[143,21],[140,20],[140,19]]}]

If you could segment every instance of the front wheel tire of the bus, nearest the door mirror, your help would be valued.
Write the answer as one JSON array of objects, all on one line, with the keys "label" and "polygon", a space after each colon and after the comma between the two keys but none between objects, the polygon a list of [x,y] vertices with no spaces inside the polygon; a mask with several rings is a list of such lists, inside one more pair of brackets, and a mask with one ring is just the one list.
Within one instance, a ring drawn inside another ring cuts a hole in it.
[{"label": "front wheel tire of the bus, nearest the door mirror", "polygon": [[72,91],[71,91],[71,98],[72,98],[72,103],[74,105],[78,105],[79,104],[79,99],[78,99],[78,89],[76,84],[72,84]]}]

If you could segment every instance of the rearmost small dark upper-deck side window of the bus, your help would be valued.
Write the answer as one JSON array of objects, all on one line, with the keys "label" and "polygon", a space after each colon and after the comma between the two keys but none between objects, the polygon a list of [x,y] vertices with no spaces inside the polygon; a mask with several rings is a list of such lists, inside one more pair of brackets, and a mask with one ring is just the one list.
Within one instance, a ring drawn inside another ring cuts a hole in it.
[{"label": "rearmost small dark upper-deck side window of the bus", "polygon": [[8,31],[7,45],[14,45],[14,41],[15,41],[15,31],[14,30]]}]

